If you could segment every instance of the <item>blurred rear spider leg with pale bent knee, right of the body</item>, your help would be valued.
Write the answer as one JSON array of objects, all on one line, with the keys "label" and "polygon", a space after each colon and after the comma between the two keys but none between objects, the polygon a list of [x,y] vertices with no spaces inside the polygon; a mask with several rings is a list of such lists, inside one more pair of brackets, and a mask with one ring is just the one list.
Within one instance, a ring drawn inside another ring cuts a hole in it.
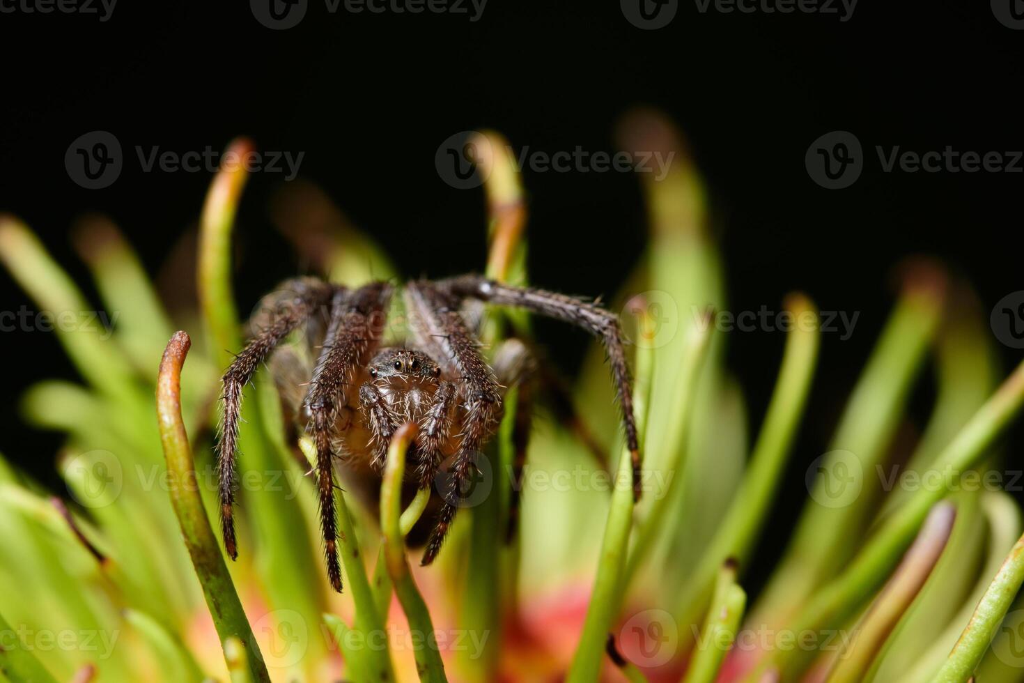
[{"label": "blurred rear spider leg with pale bent knee, right of the body", "polygon": [[504,391],[516,387],[514,423],[512,424],[512,477],[509,495],[509,518],[505,541],[511,542],[519,525],[519,504],[522,493],[522,470],[526,464],[526,446],[534,426],[534,392],[537,359],[518,339],[508,339],[495,352],[495,374]]}]

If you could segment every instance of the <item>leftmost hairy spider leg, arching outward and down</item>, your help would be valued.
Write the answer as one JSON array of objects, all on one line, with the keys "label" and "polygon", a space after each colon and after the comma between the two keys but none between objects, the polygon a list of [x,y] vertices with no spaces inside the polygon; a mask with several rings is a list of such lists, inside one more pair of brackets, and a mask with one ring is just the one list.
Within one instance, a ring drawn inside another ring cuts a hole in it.
[{"label": "leftmost hairy spider leg, arching outward and down", "polygon": [[[238,547],[234,539],[234,452],[239,440],[239,416],[242,392],[256,369],[274,348],[296,328],[309,319],[321,306],[331,300],[335,288],[327,283],[302,278],[285,282],[276,292],[263,299],[260,315],[250,327],[253,337],[239,353],[221,380],[222,417],[217,439],[217,476],[220,497],[220,528],[224,549],[234,559]],[[273,311],[270,314],[267,311]]]}]

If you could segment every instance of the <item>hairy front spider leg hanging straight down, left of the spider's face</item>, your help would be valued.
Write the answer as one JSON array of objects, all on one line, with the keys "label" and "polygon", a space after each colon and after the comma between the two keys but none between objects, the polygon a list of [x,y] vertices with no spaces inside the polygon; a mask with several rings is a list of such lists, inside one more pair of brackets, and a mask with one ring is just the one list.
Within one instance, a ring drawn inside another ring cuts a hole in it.
[{"label": "hairy front spider leg hanging straight down, left of the spider's face", "polygon": [[319,490],[321,531],[327,572],[334,590],[341,592],[338,564],[338,527],[334,507],[334,437],[338,410],[345,404],[344,387],[353,371],[377,344],[391,297],[385,283],[367,285],[354,292],[339,291],[331,302],[331,323],[324,339],[306,394],[309,428],[316,444],[316,485]]}]

